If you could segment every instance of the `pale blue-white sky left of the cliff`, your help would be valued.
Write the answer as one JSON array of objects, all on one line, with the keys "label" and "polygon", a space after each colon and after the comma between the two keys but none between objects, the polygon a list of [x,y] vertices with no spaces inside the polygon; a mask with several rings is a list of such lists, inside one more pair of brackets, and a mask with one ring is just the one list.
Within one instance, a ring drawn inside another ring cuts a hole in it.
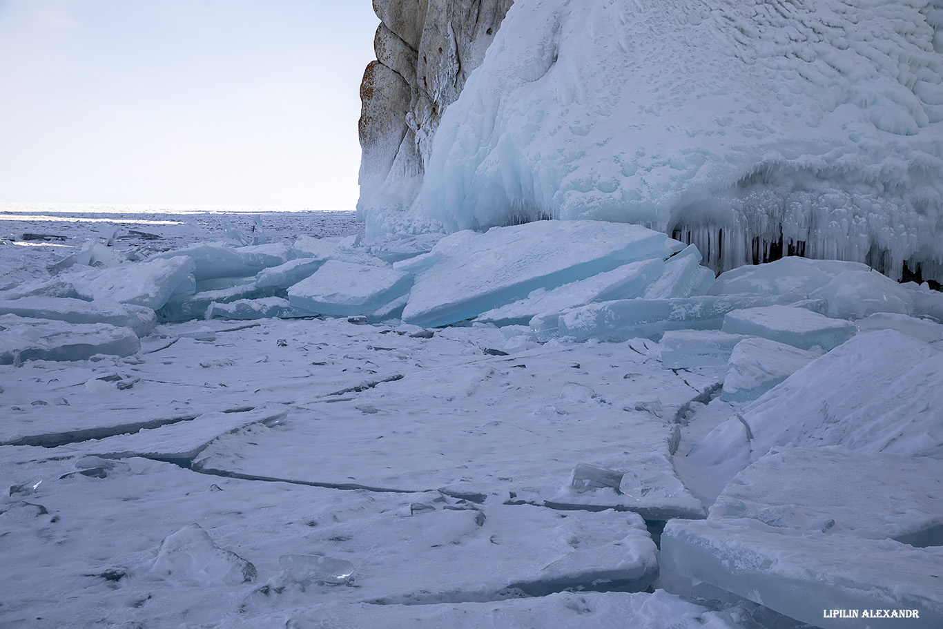
[{"label": "pale blue-white sky left of the cliff", "polygon": [[370,0],[0,0],[0,202],[353,207]]}]

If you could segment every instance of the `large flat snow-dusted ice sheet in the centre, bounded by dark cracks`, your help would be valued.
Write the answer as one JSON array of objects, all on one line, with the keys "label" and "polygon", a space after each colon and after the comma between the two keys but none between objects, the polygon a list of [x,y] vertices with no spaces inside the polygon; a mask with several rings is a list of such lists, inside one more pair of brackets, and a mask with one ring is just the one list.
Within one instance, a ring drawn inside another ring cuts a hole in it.
[{"label": "large flat snow-dusted ice sheet in the centre, bounded by dark cracks", "polygon": [[[717,387],[720,370],[663,370],[651,342],[651,356],[632,343],[559,344],[442,361],[443,345],[473,333],[438,332],[403,361],[401,380],[339,398],[299,393],[289,422],[218,439],[197,464],[306,482],[630,508],[650,519],[703,517],[687,490],[639,502],[611,488],[576,492],[569,482],[581,462],[674,476],[674,417]],[[422,370],[405,369],[410,362]]]}]

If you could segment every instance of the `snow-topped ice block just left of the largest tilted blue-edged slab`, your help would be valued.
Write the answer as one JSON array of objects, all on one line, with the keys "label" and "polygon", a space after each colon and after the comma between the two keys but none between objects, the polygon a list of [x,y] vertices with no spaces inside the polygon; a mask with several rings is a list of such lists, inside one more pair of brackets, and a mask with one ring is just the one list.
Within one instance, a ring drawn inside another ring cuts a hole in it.
[{"label": "snow-topped ice block just left of the largest tilted blue-edged slab", "polygon": [[412,275],[389,266],[327,260],[289,289],[291,306],[326,315],[365,315],[405,295]]}]

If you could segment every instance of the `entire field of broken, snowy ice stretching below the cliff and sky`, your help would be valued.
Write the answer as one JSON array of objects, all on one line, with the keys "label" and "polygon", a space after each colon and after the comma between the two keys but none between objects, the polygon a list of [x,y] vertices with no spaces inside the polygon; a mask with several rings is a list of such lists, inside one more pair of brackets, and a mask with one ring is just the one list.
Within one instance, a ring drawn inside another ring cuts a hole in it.
[{"label": "entire field of broken, snowy ice stretching below the cliff and sky", "polygon": [[926,285],[715,280],[628,224],[2,210],[0,625],[943,623]]}]

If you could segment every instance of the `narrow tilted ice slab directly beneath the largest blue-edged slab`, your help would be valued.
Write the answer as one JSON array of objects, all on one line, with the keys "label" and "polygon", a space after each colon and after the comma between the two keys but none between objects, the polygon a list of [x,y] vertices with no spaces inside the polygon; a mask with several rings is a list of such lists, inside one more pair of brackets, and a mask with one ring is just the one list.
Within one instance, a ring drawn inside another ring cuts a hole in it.
[{"label": "narrow tilted ice slab directly beneath the largest blue-edged slab", "polygon": [[623,264],[617,269],[556,287],[538,289],[524,299],[483,312],[477,321],[496,325],[526,325],[542,312],[586,306],[591,302],[636,297],[665,273],[661,258]]}]

